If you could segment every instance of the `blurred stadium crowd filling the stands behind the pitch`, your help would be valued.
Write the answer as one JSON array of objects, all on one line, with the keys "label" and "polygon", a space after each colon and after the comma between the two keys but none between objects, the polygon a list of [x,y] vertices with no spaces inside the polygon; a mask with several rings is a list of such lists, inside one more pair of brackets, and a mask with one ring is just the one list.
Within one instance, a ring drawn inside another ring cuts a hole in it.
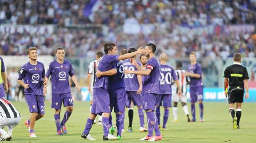
[{"label": "blurred stadium crowd filling the stands behind the pitch", "polygon": [[[139,24],[159,24],[162,30],[155,28],[150,34],[136,35],[115,32],[131,17]],[[111,40],[119,49],[154,42],[160,48],[157,54],[165,51],[171,57],[186,57],[192,50],[199,57],[212,59],[225,59],[236,51],[255,57],[253,32],[221,30],[216,34],[215,29],[210,34],[189,35],[176,28],[255,23],[256,0],[0,0],[0,24],[57,25],[53,34],[0,31],[0,54],[26,55],[26,48],[36,46],[40,55],[54,55],[53,49],[62,46],[68,56],[88,56]],[[74,24],[102,24],[108,32],[66,28]]]}]

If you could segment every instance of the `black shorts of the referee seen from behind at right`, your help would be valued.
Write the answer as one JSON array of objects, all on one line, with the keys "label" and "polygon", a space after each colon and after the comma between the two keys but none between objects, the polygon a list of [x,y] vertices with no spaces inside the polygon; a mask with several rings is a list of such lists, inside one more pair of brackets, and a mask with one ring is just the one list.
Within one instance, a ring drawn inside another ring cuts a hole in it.
[{"label": "black shorts of the referee seen from behind at right", "polygon": [[229,104],[231,103],[242,103],[243,102],[243,94],[244,94],[244,88],[243,87],[230,87],[229,88]]}]

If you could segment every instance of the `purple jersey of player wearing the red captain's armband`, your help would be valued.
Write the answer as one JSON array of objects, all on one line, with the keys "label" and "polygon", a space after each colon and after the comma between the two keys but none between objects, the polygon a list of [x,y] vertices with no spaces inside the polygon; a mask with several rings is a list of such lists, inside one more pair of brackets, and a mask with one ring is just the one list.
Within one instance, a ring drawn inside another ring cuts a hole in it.
[{"label": "purple jersey of player wearing the red captain's armband", "polygon": [[150,75],[145,76],[143,82],[143,93],[159,94],[160,64],[155,57],[148,60],[146,70],[150,69]]}]

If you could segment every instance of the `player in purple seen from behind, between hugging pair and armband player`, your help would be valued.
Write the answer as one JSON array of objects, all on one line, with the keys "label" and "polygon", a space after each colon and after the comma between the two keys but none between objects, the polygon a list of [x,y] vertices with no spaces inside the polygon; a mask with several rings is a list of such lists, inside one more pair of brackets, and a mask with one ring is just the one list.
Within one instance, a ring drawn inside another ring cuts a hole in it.
[{"label": "player in purple seen from behind, between hugging pair and armband player", "polygon": [[[132,53],[136,51],[135,48],[130,48],[128,50],[128,53]],[[132,57],[133,60],[136,60],[136,56]],[[141,63],[137,61],[137,63],[141,66]],[[124,60],[124,69],[129,70],[137,70],[137,68],[132,65],[129,59]],[[126,106],[128,107],[128,116],[129,116],[129,130],[128,132],[132,132],[132,117],[133,117],[133,109],[131,107],[131,102],[133,105],[137,105],[138,107],[138,114],[140,118],[140,131],[147,131],[147,129],[144,126],[144,113],[143,113],[143,102],[142,102],[142,77],[140,75],[134,75],[134,74],[126,74],[124,76],[124,81],[126,84]]]}]

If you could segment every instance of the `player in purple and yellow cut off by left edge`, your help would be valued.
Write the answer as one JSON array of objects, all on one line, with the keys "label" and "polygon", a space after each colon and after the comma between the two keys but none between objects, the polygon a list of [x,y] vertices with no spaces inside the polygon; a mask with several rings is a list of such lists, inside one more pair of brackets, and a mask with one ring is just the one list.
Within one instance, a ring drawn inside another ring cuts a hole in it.
[{"label": "player in purple and yellow cut off by left edge", "polygon": [[[4,60],[2,57],[0,57],[0,98],[5,98],[5,93],[8,93],[8,82],[7,82],[7,76],[5,73],[5,67],[4,67]],[[4,84],[3,84],[4,83]]]}]

